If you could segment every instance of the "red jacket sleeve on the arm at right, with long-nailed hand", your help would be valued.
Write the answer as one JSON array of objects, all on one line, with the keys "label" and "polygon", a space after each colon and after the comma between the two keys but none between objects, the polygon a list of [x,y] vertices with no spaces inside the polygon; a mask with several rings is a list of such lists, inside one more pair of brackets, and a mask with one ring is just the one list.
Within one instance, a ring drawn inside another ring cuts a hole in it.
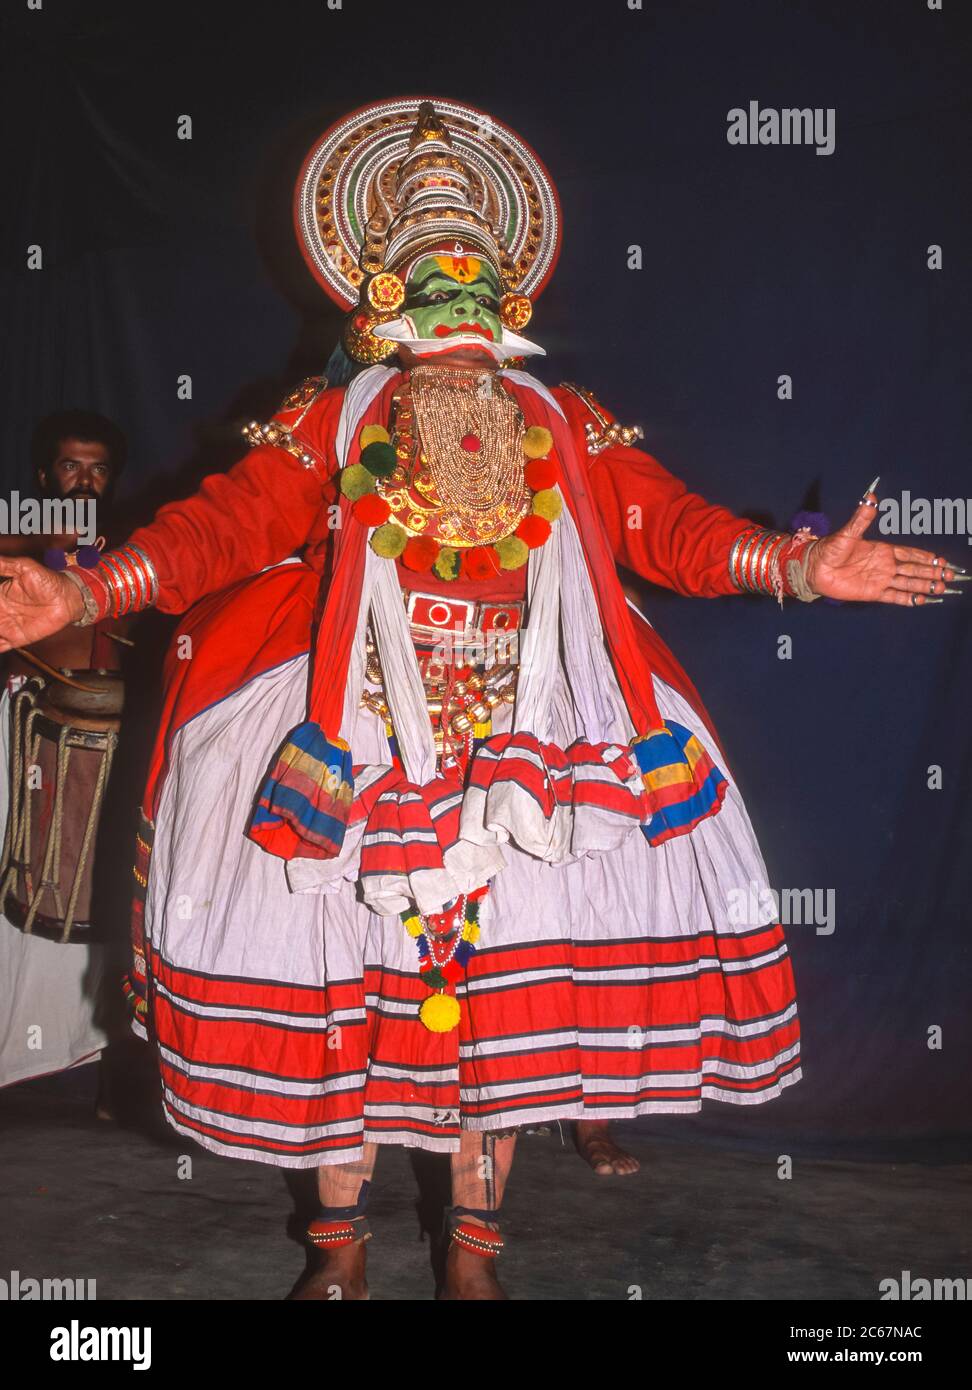
[{"label": "red jacket sleeve on the arm at right, with long-nailed hand", "polygon": [[591,493],[617,563],[692,598],[738,594],[729,574],[729,552],[755,523],[690,492],[641,449],[612,443],[588,453],[585,427],[591,425],[597,441],[615,424],[613,416],[585,392],[562,386],[555,396],[581,457],[590,463]]}]

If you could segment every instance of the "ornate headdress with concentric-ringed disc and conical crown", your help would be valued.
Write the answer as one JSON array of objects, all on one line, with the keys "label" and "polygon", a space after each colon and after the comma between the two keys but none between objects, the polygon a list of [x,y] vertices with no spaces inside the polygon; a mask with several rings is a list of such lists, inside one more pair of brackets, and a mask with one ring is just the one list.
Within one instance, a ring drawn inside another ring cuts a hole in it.
[{"label": "ornate headdress with concentric-ringed disc and conical crown", "polygon": [[456,245],[535,299],[560,246],[560,207],[530,146],[460,101],[399,97],[343,117],[305,160],[295,190],[300,249],[345,309],[381,271]]}]

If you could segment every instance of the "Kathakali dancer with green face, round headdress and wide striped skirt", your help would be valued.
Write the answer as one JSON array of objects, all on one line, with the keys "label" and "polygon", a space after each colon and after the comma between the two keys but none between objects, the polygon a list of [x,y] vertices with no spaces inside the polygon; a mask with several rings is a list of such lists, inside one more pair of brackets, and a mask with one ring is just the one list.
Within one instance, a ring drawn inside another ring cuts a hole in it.
[{"label": "Kathakali dancer with green face, round headdress and wide striped skirt", "polygon": [[[332,126],[296,189],[356,371],[95,570],[6,562],[0,634],[191,610],[136,880],[170,1123],[318,1169],[296,1297],[364,1297],[381,1144],[449,1154],[445,1297],[503,1297],[517,1127],[754,1105],[800,1079],[780,926],[690,680],[616,563],[684,595],[919,606],[953,571],[712,506],[523,336],[560,213],[452,100]],[[295,559],[299,552],[299,559]],[[1,645],[1,644],[0,644]]]}]

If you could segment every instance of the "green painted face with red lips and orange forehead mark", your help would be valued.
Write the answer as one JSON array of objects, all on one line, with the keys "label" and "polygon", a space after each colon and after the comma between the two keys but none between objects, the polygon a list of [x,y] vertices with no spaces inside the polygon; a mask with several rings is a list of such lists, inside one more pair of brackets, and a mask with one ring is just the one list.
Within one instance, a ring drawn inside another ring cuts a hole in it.
[{"label": "green painted face with red lips and orange forehead mark", "polygon": [[449,338],[459,331],[480,332],[499,342],[499,277],[489,261],[476,256],[426,256],[409,275],[402,313],[420,338]]}]

